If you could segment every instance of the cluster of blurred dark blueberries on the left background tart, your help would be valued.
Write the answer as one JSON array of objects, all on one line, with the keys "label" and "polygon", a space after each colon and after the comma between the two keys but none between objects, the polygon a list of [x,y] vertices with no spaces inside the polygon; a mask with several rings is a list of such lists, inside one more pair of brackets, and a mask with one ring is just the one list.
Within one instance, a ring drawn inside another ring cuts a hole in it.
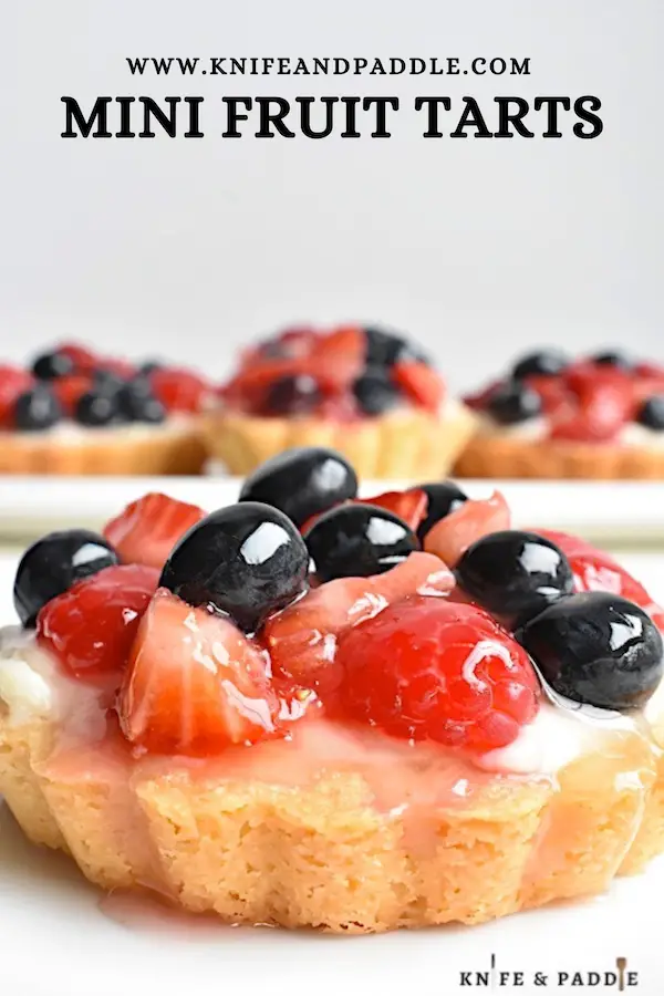
[{"label": "cluster of blurred dark blueberries on the left background tart", "polygon": [[[132,422],[159,424],[166,409],[155,396],[149,374],[157,369],[146,363],[136,374],[125,378],[100,367],[92,374],[92,385],[74,403],[72,417],[79,425],[91,428],[122,425]],[[32,364],[37,384],[15,401],[14,425],[24,432],[52,428],[65,417],[53,390],[53,382],[75,374],[73,360],[58,351],[43,353]]]}]

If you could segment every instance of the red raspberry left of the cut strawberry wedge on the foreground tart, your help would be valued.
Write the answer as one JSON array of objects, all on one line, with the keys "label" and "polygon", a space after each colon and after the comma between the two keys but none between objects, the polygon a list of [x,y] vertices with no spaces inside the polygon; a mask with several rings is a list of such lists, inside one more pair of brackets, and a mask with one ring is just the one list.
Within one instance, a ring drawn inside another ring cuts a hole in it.
[{"label": "red raspberry left of the cut strawberry wedge on the foreground tart", "polygon": [[48,602],[37,639],[75,677],[123,671],[159,580],[154,568],[108,567]]}]

